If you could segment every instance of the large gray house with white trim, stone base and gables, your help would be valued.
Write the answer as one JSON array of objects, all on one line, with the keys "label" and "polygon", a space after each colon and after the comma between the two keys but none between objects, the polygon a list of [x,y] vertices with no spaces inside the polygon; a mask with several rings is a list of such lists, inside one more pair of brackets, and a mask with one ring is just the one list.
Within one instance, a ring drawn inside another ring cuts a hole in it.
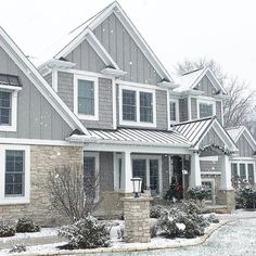
[{"label": "large gray house with white trim, stone base and gables", "polygon": [[99,174],[103,210],[120,209],[135,176],[155,199],[171,182],[182,194],[205,183],[213,201],[232,204],[231,161],[240,146],[222,127],[226,90],[207,67],[170,76],[117,2],[68,34],[40,74],[3,30],[0,47],[4,218],[34,214],[56,222],[47,176],[71,162]]}]

